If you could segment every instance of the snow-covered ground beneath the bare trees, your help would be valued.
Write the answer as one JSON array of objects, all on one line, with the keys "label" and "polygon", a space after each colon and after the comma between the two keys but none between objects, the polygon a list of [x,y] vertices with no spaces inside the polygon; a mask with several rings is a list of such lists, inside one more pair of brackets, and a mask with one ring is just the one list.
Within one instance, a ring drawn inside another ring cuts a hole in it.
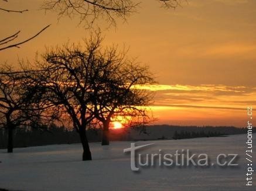
[{"label": "snow-covered ground beneath the bare trees", "polygon": [[[80,144],[17,148],[13,154],[0,150],[0,188],[35,190],[256,190],[245,187],[245,135],[196,138],[190,140],[142,141],[136,145],[155,143],[143,152],[159,149],[175,154],[189,149],[194,154],[239,154],[237,168],[130,168],[130,155],[123,153],[127,142],[102,147],[90,144],[93,161],[81,161]],[[254,139],[256,143],[256,139]],[[253,155],[256,166],[256,150]],[[256,175],[254,176],[256,185]]]}]

